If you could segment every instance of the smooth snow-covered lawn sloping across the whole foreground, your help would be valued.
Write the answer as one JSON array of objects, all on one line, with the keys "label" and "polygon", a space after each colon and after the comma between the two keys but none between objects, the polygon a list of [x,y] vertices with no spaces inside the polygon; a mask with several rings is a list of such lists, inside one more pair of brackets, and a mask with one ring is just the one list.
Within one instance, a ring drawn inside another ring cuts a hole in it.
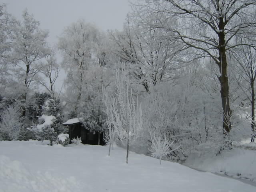
[{"label": "smooth snow-covered lawn sloping across the whole foreground", "polygon": [[252,192],[243,182],[115,147],[0,142],[0,192]]}]

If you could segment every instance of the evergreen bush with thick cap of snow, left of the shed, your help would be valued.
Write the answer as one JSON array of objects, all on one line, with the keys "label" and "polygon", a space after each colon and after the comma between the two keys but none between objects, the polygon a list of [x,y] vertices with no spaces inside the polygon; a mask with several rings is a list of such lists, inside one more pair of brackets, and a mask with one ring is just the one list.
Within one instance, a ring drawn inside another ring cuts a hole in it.
[{"label": "evergreen bush with thick cap of snow, left of the shed", "polygon": [[50,145],[52,145],[52,142],[57,138],[57,133],[53,127],[56,118],[52,115],[42,115],[38,121],[39,124],[32,126],[29,130],[34,132],[38,140],[50,140]]}]

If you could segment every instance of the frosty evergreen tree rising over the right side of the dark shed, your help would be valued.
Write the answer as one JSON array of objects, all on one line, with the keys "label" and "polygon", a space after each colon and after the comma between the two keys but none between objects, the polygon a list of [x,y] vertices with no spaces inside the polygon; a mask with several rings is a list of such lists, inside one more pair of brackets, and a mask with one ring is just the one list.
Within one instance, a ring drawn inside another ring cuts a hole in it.
[{"label": "frosty evergreen tree rising over the right side of the dark shed", "polygon": [[[78,112],[84,118],[84,126],[90,132],[100,133],[107,129],[105,105],[102,101],[102,87],[109,86],[112,80],[110,70],[99,65],[90,66],[85,73],[82,87],[83,97],[80,100]],[[98,139],[98,142],[100,139]]]}]

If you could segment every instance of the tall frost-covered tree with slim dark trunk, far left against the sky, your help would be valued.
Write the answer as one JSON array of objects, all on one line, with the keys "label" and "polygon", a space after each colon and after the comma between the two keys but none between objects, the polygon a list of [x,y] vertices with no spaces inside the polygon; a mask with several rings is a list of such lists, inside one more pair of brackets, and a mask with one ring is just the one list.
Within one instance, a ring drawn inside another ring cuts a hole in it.
[{"label": "tall frost-covered tree with slim dark trunk, far left against the sky", "polygon": [[24,102],[22,115],[26,114],[26,97],[28,88],[36,81],[38,72],[42,70],[42,58],[49,54],[46,38],[48,31],[39,28],[40,22],[33,18],[28,10],[22,14],[22,22],[17,22],[13,28],[11,62],[14,67],[10,68],[13,80],[23,88],[22,99]]}]

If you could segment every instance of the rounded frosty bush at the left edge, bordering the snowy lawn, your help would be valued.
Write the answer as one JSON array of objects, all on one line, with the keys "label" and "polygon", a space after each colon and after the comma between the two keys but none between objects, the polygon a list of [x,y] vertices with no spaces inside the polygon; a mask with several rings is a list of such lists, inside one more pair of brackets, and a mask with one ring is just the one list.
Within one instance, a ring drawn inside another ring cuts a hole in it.
[{"label": "rounded frosty bush at the left edge, bordering the snowy lawn", "polygon": [[0,113],[0,117],[0,139],[17,140],[24,128],[19,108],[11,105]]}]

